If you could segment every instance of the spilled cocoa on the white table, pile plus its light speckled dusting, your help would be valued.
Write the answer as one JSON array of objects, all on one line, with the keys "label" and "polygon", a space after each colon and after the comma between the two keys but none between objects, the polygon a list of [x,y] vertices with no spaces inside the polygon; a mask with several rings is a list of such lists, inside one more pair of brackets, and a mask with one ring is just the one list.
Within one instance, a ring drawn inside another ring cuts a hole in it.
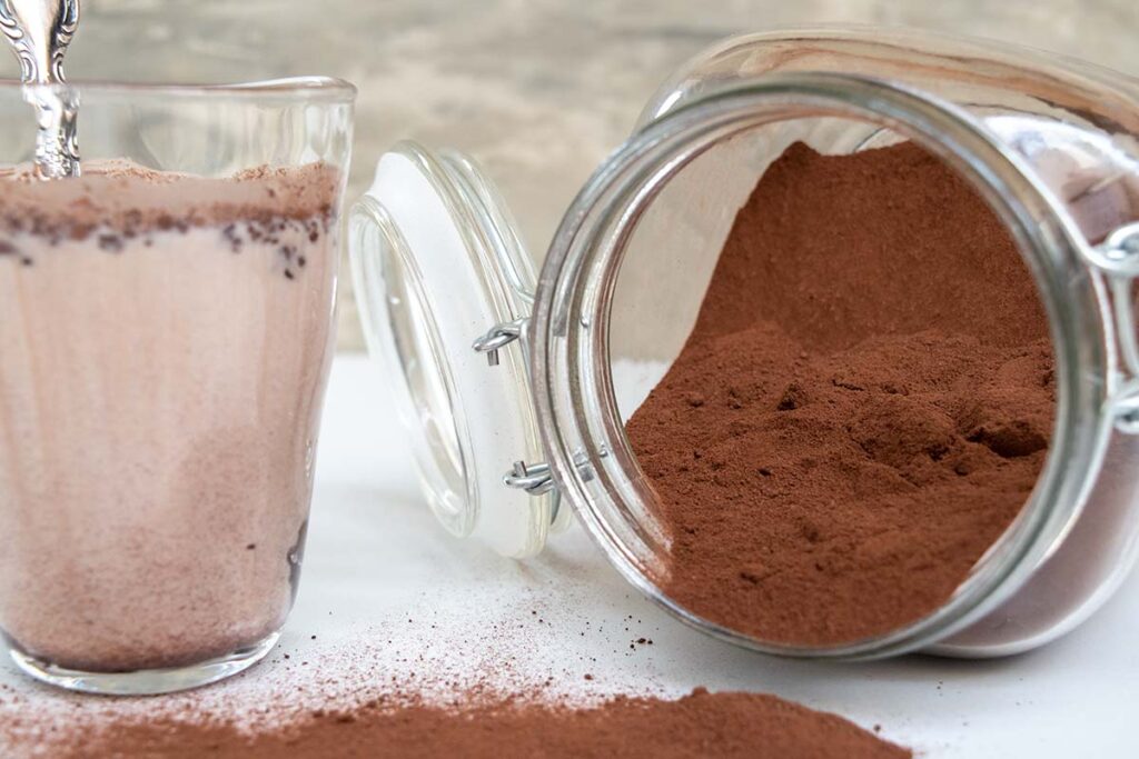
[{"label": "spilled cocoa on the white table, pile plus its light speckled dusting", "polygon": [[[0,684],[0,757],[533,756],[540,742],[549,757],[778,756],[765,745],[908,756],[886,742],[890,724],[878,740],[773,696],[686,699],[699,673],[681,674],[685,651],[640,600],[596,603],[599,586],[621,580],[575,537],[582,551],[563,542],[526,564],[485,558],[498,581],[444,584],[346,618],[343,607],[310,610],[263,662],[208,687],[95,698]],[[826,693],[811,706],[847,710]],[[867,727],[890,717],[859,711]]]}]

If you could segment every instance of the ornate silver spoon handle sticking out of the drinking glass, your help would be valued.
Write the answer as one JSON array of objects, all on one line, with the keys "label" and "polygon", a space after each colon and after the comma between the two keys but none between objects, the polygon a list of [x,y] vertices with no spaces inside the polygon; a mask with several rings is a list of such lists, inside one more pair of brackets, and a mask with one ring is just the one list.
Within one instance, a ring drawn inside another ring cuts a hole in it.
[{"label": "ornate silver spoon handle sticking out of the drinking glass", "polygon": [[24,99],[35,108],[35,172],[79,176],[79,100],[64,84],[64,53],[79,26],[79,0],[0,0],[0,28],[19,60]]}]

